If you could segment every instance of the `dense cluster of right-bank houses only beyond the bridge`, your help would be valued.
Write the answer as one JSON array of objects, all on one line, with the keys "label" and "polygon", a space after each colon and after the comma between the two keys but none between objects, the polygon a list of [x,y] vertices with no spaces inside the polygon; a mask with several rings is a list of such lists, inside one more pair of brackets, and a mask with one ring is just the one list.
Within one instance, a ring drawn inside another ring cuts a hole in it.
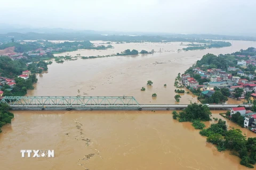
[{"label": "dense cluster of right-bank houses only beyond the bridge", "polygon": [[[246,65],[255,65],[256,60],[248,60],[248,61],[238,61],[237,65],[241,67],[246,67]],[[188,89],[199,89],[201,91],[201,95],[205,97],[211,97],[215,90],[214,88],[227,88],[230,92],[228,97],[236,98],[237,100],[245,99],[247,93],[251,93],[251,100],[256,99],[256,81],[255,75],[253,74],[245,74],[238,67],[228,67],[227,71],[223,71],[221,69],[205,69],[204,67],[208,67],[209,65],[202,65],[202,67],[193,67],[193,75],[199,75],[201,80],[208,79],[209,82],[203,82],[203,84],[199,85],[199,82],[191,76],[191,74],[182,74],[181,82],[183,86]],[[205,70],[205,71],[203,71]],[[230,72],[236,72],[236,75],[233,76]],[[256,70],[255,70],[256,72]],[[246,78],[246,79],[245,79]],[[241,95],[238,97],[235,96],[235,89],[242,89]]]}]

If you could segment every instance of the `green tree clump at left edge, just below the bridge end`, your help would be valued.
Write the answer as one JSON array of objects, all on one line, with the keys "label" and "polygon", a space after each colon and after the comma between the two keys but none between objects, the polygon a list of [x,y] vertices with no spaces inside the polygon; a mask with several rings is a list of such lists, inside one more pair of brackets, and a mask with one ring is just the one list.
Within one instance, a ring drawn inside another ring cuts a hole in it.
[{"label": "green tree clump at left edge, just below the bridge end", "polygon": [[1,128],[7,123],[11,123],[12,118],[14,117],[13,113],[9,112],[9,105],[0,104],[0,133],[2,132]]}]

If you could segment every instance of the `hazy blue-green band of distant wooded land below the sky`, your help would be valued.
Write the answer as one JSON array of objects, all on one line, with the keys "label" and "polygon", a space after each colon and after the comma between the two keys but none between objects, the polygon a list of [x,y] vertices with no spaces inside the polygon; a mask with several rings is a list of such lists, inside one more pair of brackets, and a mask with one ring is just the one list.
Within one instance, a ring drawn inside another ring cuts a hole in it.
[{"label": "hazy blue-green band of distant wooded land below the sky", "polygon": [[[44,31],[41,31],[44,32]],[[55,32],[55,31],[54,31]],[[107,33],[107,32],[106,32]],[[255,41],[255,37],[245,37],[245,36],[223,36],[223,35],[182,35],[182,34],[140,34],[140,36],[129,36],[129,35],[115,35],[107,33],[108,36],[101,35],[100,32],[94,31],[82,31],[82,32],[59,32],[59,33],[35,33],[30,30],[28,33],[18,33],[10,32],[0,35],[2,41],[10,41],[10,36],[14,36],[15,40],[77,40],[77,41],[87,41],[87,40],[103,40],[103,41],[113,41],[113,42],[138,42],[147,41],[162,43],[165,42],[195,42],[195,43],[207,43],[204,39],[217,39],[217,40],[250,40]]]}]

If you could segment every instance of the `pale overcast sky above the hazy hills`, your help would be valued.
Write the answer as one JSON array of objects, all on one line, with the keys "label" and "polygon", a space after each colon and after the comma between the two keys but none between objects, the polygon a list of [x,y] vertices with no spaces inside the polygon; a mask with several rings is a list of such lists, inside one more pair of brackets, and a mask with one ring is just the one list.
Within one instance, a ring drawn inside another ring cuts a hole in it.
[{"label": "pale overcast sky above the hazy hills", "polygon": [[0,23],[32,28],[255,35],[255,9],[256,0],[0,0]]}]

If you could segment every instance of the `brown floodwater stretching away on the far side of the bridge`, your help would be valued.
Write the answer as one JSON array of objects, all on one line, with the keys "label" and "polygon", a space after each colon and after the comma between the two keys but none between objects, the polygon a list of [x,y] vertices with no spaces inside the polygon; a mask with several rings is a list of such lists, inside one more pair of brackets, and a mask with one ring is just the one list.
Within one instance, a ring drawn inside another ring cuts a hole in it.
[{"label": "brown floodwater stretching away on the far side of the bridge", "polygon": [[[92,41],[93,42],[93,41]],[[93,43],[100,43],[99,41]],[[28,96],[134,96],[141,104],[173,104],[175,103],[174,79],[178,73],[183,73],[197,60],[207,53],[226,54],[256,46],[256,42],[233,41],[232,47],[192,50],[177,53],[180,43],[129,43],[112,44],[115,48],[108,50],[78,50],[58,54],[76,56],[95,56],[120,53],[125,49],[142,49],[155,54],[137,56],[114,56],[76,61],[65,61],[63,64],[53,62],[49,71],[38,77],[34,90],[28,91]],[[159,50],[163,53],[159,53]],[[165,52],[169,51],[169,52]],[[153,86],[147,86],[147,81],[153,81]],[[167,84],[167,87],[164,87]],[[145,87],[145,91],[141,91]],[[153,93],[157,98],[152,98]],[[195,96],[184,94],[180,104],[197,101]]]}]

